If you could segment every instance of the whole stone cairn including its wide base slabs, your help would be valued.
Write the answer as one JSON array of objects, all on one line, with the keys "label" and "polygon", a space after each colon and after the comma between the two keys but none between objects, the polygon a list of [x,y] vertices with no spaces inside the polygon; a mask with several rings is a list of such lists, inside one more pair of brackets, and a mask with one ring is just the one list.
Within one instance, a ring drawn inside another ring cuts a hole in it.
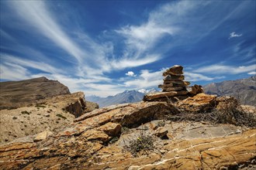
[{"label": "whole stone cairn including its wide base slabs", "polygon": [[158,87],[162,89],[162,92],[148,93],[144,96],[144,101],[167,101],[171,100],[175,102],[177,100],[184,100],[187,97],[195,96],[197,93],[202,93],[202,87],[194,85],[188,87],[190,83],[185,80],[183,75],[182,66],[172,66],[163,73],[164,83]]}]

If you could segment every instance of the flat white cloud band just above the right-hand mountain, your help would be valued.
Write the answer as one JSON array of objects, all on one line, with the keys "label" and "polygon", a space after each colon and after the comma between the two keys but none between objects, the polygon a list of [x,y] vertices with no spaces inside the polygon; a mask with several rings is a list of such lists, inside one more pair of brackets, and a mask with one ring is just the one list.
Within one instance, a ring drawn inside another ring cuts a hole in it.
[{"label": "flat white cloud band just above the right-hand mountain", "polygon": [[210,66],[202,66],[195,70],[195,73],[211,73],[211,74],[238,74],[247,73],[256,70],[256,64],[249,66],[225,66],[214,64]]}]

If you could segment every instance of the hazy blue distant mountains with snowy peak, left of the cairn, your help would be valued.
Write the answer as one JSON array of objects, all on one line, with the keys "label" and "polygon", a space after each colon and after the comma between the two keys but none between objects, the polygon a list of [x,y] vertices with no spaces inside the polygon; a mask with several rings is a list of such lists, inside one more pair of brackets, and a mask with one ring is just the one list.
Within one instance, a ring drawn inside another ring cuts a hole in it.
[{"label": "hazy blue distant mountains with snowy peak, left of the cairn", "polygon": [[123,93],[117,93],[115,96],[97,97],[88,96],[86,100],[99,104],[99,107],[107,107],[113,104],[125,104],[141,101],[144,93],[152,93],[158,91],[157,89],[140,89],[140,90],[125,90]]}]

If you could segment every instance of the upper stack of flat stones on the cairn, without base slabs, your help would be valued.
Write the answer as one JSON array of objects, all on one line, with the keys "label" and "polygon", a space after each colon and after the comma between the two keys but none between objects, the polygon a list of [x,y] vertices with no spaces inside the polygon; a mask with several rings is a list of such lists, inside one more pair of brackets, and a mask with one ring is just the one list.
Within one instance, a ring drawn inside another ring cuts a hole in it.
[{"label": "upper stack of flat stones on the cairn, without base slabs", "polygon": [[188,81],[184,81],[183,67],[175,65],[163,73],[164,84],[158,87],[163,90],[163,92],[180,91],[185,90],[186,86],[189,86]]}]

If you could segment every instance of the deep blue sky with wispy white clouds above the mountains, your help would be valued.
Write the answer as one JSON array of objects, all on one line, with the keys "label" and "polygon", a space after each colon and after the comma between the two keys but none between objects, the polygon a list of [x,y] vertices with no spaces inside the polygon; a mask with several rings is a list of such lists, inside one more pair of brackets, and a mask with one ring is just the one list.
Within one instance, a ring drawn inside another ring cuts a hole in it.
[{"label": "deep blue sky with wispy white clouds above the mountains", "polygon": [[170,66],[206,84],[254,76],[255,1],[1,1],[1,81],[46,76],[106,97]]}]

